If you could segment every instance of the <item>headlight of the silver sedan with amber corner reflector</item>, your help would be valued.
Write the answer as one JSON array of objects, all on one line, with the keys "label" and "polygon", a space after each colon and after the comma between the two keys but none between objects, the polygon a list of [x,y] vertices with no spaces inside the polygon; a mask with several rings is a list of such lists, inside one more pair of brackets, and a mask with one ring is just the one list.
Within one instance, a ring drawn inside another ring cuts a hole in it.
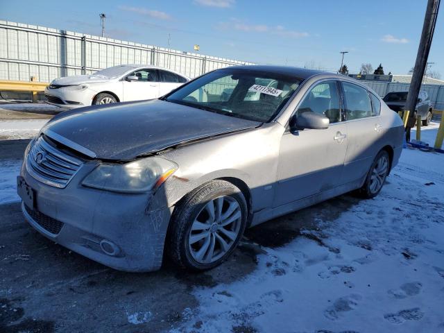
[{"label": "headlight of the silver sedan with amber corner reflector", "polygon": [[148,157],[126,164],[100,164],[82,185],[123,193],[142,193],[160,187],[178,165],[160,157]]}]

